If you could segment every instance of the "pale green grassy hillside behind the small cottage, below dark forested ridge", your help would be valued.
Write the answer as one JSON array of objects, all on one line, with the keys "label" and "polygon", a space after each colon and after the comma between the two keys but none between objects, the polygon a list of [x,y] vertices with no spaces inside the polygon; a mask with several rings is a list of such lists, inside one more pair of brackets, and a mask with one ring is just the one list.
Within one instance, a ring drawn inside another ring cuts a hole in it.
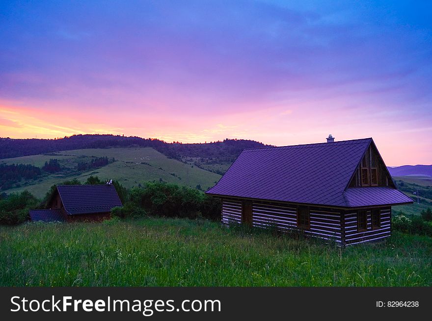
[{"label": "pale green grassy hillside behind the small cottage, below dark forested ridge", "polygon": [[[42,178],[42,181],[31,181],[31,185],[6,190],[6,193],[27,189],[33,195],[41,198],[51,185],[66,179],[77,177],[81,182],[90,175],[97,175],[101,179],[111,178],[120,181],[126,187],[133,187],[145,181],[159,180],[175,182],[182,185],[195,187],[200,184],[202,189],[208,189],[221,177],[196,166],[191,167],[174,159],[167,158],[153,148],[98,148],[77,149],[60,151],[55,155],[33,155],[0,160],[6,164],[32,164],[43,166],[50,158],[57,158],[60,164],[66,168],[76,168],[78,161],[89,161],[91,156],[114,157],[116,161],[99,169],[95,169],[78,175],[54,174]],[[141,164],[141,162],[148,163]],[[162,170],[160,169],[162,168]],[[175,173],[176,176],[171,175]]]}]

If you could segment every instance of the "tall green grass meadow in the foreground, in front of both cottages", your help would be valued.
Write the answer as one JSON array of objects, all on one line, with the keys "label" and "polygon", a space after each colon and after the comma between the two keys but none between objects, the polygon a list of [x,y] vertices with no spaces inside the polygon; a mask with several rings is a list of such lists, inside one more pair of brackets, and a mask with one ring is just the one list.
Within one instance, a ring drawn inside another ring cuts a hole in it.
[{"label": "tall green grass meadow in the foreground, in front of both cottages", "polygon": [[431,286],[432,238],[341,249],[217,222],[0,227],[1,286]]}]

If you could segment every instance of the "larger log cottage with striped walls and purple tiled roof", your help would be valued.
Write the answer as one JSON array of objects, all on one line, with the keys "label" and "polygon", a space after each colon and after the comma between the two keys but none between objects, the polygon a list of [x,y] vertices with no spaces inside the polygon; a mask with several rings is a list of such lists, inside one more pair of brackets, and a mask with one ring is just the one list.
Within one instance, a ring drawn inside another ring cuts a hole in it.
[{"label": "larger log cottage with striped walls and purple tiled roof", "polygon": [[400,192],[372,138],[244,149],[207,194],[222,199],[223,223],[301,229],[341,246],[391,235]]}]

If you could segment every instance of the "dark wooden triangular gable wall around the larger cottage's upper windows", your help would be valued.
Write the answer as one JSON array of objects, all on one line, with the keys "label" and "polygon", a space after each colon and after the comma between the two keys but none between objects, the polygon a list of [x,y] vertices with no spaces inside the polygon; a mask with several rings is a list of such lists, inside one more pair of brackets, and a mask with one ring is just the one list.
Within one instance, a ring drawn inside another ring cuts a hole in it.
[{"label": "dark wooden triangular gable wall around the larger cottage's upper windows", "polygon": [[[355,170],[354,175],[351,178],[349,187],[362,187],[361,182],[361,169],[367,168],[369,173],[369,185],[367,186],[392,186],[393,181],[389,176],[387,169],[385,168],[385,164],[381,160],[381,157],[378,154],[378,150],[372,144],[366,150],[365,155],[363,156],[360,165]],[[378,174],[378,182],[376,185],[372,185],[372,177],[371,177],[371,169],[376,168]]]}]

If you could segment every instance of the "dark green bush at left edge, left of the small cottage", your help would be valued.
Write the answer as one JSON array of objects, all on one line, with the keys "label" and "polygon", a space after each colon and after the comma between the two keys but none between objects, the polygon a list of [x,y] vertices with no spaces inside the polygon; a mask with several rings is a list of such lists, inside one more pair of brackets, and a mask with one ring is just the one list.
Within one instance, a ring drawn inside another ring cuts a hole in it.
[{"label": "dark green bush at left edge, left of the small cottage", "polygon": [[0,224],[19,224],[28,220],[28,211],[38,200],[28,191],[12,193],[0,200]]}]

